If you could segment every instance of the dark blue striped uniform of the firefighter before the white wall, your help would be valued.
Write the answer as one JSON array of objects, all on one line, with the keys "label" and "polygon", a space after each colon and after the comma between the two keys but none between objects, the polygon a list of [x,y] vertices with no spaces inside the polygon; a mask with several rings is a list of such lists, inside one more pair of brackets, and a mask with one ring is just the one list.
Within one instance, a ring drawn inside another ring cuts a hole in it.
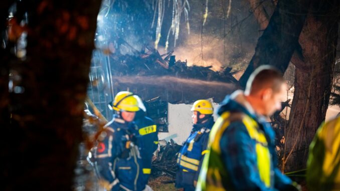
[{"label": "dark blue striped uniform of the firefighter before the white wall", "polygon": [[205,123],[193,125],[193,130],[178,155],[176,187],[194,186],[194,180],[197,181],[213,125],[213,117]]}]

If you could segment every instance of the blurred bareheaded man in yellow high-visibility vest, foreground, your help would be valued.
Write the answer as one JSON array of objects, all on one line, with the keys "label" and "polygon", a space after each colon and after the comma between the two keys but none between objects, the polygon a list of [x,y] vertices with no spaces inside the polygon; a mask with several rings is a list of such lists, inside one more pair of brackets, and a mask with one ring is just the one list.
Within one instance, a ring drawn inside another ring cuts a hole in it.
[{"label": "blurred bareheaded man in yellow high-visibility vest, foreground", "polygon": [[280,72],[261,66],[245,92],[227,96],[218,110],[196,190],[297,190],[277,166],[275,133],[266,117],[281,108],[287,85]]}]

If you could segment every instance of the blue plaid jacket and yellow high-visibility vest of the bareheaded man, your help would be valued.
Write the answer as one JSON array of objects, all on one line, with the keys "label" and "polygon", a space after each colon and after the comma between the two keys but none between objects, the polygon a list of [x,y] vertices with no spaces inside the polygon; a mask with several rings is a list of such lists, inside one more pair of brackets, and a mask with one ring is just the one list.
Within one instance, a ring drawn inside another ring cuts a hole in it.
[{"label": "blue plaid jacket and yellow high-visibility vest of the bareheaded man", "polygon": [[297,190],[277,166],[275,132],[238,91],[218,110],[196,190]]}]

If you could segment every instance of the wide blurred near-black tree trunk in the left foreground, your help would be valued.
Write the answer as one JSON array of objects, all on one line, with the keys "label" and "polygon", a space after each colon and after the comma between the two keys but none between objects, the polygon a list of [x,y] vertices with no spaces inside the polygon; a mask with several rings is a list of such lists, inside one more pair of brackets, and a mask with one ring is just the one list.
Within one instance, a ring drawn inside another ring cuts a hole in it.
[{"label": "wide blurred near-black tree trunk in the left foreground", "polygon": [[27,56],[7,61],[14,86],[1,92],[12,116],[5,189],[71,190],[101,1],[21,2]]}]

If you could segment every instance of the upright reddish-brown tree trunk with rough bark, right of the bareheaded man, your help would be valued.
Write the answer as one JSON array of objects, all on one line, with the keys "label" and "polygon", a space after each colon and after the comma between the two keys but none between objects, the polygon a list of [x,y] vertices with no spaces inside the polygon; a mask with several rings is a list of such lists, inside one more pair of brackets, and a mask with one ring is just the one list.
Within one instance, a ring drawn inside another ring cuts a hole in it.
[{"label": "upright reddish-brown tree trunk with rough bark, right of the bareheaded man", "polygon": [[294,59],[295,91],[285,136],[283,168],[306,166],[308,147],[328,107],[338,36],[339,2],[312,4],[299,43],[302,59]]}]

